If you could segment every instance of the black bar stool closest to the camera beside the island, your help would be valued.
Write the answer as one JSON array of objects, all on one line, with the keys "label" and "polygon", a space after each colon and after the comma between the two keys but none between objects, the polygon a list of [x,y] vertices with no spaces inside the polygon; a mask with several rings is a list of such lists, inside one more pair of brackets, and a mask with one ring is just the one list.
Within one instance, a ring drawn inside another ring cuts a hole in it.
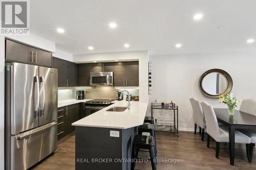
[{"label": "black bar stool closest to the camera beside the island", "polygon": [[[153,136],[135,135],[133,140],[133,147],[132,147],[133,160],[138,158],[140,149],[146,149],[150,152],[152,170],[157,169],[154,141],[155,140]],[[134,170],[135,164],[136,164],[136,161],[133,161],[131,165],[131,170]]]}]

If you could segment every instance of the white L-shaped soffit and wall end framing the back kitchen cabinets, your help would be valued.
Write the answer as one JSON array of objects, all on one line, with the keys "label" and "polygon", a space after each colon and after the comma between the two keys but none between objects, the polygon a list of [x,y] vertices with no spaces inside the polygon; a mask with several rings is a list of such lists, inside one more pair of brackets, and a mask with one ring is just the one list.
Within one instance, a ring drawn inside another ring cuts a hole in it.
[{"label": "white L-shaped soffit and wall end framing the back kitchen cabinets", "polygon": [[148,52],[120,52],[120,53],[99,53],[73,55],[73,62],[92,61],[131,61],[139,60],[139,96],[140,102],[148,102]]}]

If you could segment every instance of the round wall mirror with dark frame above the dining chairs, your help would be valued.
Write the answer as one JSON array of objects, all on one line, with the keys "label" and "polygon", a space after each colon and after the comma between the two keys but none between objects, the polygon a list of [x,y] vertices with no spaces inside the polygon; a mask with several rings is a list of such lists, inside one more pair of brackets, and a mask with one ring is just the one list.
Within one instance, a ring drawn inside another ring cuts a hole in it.
[{"label": "round wall mirror with dark frame above the dining chairs", "polygon": [[210,69],[199,80],[200,90],[210,98],[219,98],[220,95],[229,93],[232,85],[230,75],[222,69]]}]

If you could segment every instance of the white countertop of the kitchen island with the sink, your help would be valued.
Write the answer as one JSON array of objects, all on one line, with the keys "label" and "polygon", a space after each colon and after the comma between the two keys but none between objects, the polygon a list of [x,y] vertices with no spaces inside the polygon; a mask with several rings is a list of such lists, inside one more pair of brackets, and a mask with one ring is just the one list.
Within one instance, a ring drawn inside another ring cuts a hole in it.
[{"label": "white countertop of the kitchen island with the sink", "polygon": [[143,124],[148,103],[131,101],[130,110],[126,109],[123,112],[106,111],[112,107],[127,106],[127,101],[114,101],[113,103],[113,105],[76,121],[72,126],[127,129]]}]

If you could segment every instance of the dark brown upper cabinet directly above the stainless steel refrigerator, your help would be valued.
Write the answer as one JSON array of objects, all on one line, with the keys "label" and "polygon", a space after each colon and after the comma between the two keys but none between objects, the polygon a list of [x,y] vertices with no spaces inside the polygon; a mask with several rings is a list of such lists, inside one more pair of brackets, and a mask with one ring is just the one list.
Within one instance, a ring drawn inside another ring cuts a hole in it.
[{"label": "dark brown upper cabinet directly above the stainless steel refrigerator", "polygon": [[52,66],[52,53],[8,39],[5,40],[5,58],[11,62]]}]

